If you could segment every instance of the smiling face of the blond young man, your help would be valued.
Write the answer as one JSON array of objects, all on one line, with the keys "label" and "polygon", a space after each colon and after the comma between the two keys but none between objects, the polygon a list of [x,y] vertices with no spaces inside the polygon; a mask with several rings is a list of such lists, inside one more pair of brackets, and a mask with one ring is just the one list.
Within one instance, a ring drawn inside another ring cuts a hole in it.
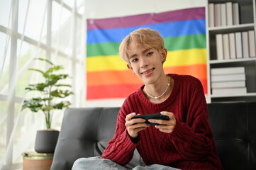
[{"label": "smiling face of the blond young man", "polygon": [[162,60],[165,59],[165,49],[158,52],[152,47],[142,47],[133,42],[129,45],[128,68],[144,82],[144,84],[154,84],[163,72]]}]

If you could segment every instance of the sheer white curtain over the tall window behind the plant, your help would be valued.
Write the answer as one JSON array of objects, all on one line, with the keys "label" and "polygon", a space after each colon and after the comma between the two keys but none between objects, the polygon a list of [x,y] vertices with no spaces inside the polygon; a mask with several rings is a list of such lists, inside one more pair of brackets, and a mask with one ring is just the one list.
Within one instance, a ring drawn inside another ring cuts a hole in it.
[{"label": "sheer white curtain over the tall window behind the plant", "polygon": [[[78,13],[84,0],[4,0],[8,23],[0,21],[0,169],[21,169],[23,152],[33,152],[37,130],[45,129],[43,113],[21,111],[28,84],[37,83],[40,74],[28,68],[46,69],[34,58],[62,64],[69,74],[74,96],[72,107],[83,106],[85,98],[85,16]],[[77,4],[79,3],[79,4]],[[1,11],[1,7],[0,7]],[[0,12],[0,18],[3,13]],[[6,13],[4,13],[6,15]],[[50,16],[49,16],[50,15]],[[49,36],[50,35],[50,36]],[[4,39],[2,38],[4,37]],[[2,45],[4,44],[4,46]],[[82,77],[82,78],[81,78]],[[63,111],[53,114],[52,128],[60,130]]]}]

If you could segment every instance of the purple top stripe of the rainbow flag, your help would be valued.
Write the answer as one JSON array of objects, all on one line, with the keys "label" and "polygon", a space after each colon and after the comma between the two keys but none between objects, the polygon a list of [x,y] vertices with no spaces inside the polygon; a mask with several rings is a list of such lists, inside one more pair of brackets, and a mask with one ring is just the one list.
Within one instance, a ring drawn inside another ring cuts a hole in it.
[{"label": "purple top stripe of the rainbow flag", "polygon": [[[148,17],[151,16],[151,17]],[[205,8],[187,8],[164,13],[147,13],[136,16],[118,18],[88,19],[87,30],[126,28],[172,21],[186,21],[205,18]]]}]

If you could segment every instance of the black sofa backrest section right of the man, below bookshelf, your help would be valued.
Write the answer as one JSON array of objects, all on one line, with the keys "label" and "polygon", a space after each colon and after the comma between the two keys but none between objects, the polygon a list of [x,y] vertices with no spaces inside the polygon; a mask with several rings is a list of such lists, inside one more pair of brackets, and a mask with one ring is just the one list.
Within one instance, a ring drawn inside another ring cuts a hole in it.
[{"label": "black sofa backrest section right of the man, below bookshelf", "polygon": [[256,169],[256,102],[208,104],[223,168]]}]

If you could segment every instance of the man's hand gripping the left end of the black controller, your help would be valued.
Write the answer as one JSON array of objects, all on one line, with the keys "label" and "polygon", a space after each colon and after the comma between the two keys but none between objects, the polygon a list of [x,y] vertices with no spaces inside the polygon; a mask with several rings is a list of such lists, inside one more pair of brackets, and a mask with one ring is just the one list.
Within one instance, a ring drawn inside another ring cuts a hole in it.
[{"label": "man's hand gripping the left end of the black controller", "polygon": [[140,132],[140,130],[145,130],[150,126],[148,123],[145,123],[145,119],[142,119],[142,118],[131,119],[135,115],[136,113],[130,113],[126,115],[126,124],[125,124],[128,134],[130,135],[130,137],[133,137],[133,138],[138,136],[138,132]]}]

